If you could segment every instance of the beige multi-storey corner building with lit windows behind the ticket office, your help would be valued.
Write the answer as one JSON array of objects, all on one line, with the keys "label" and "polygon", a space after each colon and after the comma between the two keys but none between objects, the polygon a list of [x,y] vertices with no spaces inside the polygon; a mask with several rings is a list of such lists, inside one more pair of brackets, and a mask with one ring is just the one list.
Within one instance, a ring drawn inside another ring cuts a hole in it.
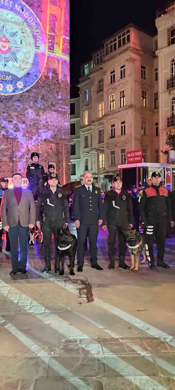
[{"label": "beige multi-storey corner building with lit windows behind the ticket office", "polygon": [[144,161],[158,162],[159,99],[157,35],[130,24],[103,41],[81,67],[81,173],[90,170],[107,190],[126,161],[126,152],[142,149]]}]

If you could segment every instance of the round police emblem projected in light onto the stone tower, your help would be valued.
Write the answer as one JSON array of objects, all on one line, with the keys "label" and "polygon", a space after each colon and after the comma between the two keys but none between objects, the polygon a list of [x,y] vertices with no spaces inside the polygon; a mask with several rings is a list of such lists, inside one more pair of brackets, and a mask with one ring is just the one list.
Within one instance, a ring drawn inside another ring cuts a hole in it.
[{"label": "round police emblem projected in light onto the stone tower", "polygon": [[25,3],[0,5],[0,95],[24,92],[39,80],[46,66],[46,36]]}]

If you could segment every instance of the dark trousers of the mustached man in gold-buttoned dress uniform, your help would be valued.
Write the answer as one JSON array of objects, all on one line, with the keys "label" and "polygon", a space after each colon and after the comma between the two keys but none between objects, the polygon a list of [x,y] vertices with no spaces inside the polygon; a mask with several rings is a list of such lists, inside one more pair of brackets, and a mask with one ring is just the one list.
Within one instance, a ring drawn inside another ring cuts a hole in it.
[{"label": "dark trousers of the mustached man in gold-buttoned dress uniform", "polygon": [[86,238],[89,238],[89,251],[91,256],[91,265],[97,264],[96,242],[98,237],[98,225],[82,225],[77,229],[77,264],[84,264],[84,247]]}]

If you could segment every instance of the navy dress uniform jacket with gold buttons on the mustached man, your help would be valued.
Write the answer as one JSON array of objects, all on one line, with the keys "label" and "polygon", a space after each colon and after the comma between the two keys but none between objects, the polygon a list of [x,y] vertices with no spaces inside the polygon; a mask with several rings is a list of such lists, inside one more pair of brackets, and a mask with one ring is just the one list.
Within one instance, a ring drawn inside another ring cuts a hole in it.
[{"label": "navy dress uniform jacket with gold buttons on the mustached man", "polygon": [[98,225],[98,220],[103,219],[103,204],[100,188],[92,187],[89,193],[85,187],[77,186],[73,193],[74,220],[79,220],[82,225]]}]

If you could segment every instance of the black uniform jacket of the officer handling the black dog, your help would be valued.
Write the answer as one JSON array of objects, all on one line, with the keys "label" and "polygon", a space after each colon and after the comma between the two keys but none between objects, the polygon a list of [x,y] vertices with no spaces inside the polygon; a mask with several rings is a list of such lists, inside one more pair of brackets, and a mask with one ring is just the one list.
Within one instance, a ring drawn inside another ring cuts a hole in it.
[{"label": "black uniform jacket of the officer handling the black dog", "polygon": [[61,220],[63,222],[63,213],[65,222],[70,221],[69,208],[66,195],[62,194],[59,188],[53,193],[49,187],[44,188],[39,194],[37,201],[36,221],[40,220],[40,211],[43,205],[44,219],[51,221]]}]

